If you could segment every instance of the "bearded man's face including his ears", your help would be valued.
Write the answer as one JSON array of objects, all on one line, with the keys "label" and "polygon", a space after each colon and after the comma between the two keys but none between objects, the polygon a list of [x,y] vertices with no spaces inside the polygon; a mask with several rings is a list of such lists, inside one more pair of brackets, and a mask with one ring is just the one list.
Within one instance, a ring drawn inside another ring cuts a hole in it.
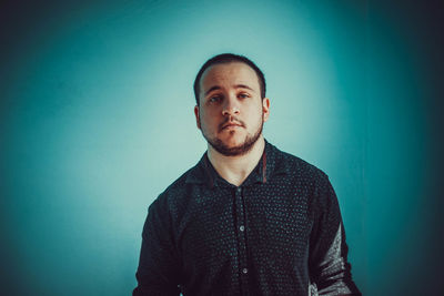
[{"label": "bearded man's face including his ears", "polygon": [[200,81],[198,127],[218,152],[226,156],[250,151],[269,119],[270,100],[261,99],[258,75],[241,62],[214,64]]}]

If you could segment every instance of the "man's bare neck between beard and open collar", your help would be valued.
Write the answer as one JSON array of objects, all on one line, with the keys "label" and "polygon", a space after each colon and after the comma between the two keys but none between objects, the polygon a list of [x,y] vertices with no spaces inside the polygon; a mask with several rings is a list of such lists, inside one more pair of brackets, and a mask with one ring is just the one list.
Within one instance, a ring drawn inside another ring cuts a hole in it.
[{"label": "man's bare neck between beard and open collar", "polygon": [[239,186],[258,165],[264,149],[265,140],[261,135],[248,153],[239,156],[225,156],[209,144],[208,157],[221,177]]}]

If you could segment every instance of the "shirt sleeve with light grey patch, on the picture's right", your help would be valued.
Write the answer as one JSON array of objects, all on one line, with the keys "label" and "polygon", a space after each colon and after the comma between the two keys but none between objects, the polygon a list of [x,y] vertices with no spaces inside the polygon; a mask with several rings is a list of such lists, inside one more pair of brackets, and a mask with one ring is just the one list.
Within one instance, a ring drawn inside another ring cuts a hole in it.
[{"label": "shirt sleeve with light grey patch, on the picture's right", "polygon": [[315,190],[309,268],[319,295],[362,295],[352,280],[336,194],[325,176]]}]

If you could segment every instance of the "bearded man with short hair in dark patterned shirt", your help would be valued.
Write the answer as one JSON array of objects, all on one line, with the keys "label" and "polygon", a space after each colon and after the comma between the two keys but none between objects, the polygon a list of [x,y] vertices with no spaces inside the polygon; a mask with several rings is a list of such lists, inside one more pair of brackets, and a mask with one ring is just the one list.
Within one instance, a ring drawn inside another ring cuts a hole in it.
[{"label": "bearded man with short hair in dark patterned shirt", "polygon": [[133,295],[361,295],[327,176],[262,135],[262,71],[216,55],[194,94],[208,151],[150,205]]}]

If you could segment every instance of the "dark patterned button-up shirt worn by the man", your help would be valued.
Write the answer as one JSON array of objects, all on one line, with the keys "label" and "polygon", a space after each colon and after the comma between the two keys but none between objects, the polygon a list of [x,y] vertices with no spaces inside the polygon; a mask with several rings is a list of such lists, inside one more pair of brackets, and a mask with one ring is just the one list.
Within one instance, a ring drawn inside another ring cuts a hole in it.
[{"label": "dark patterned button-up shirt worn by the man", "polygon": [[361,295],[336,195],[265,141],[240,186],[201,161],[150,205],[133,295]]}]

